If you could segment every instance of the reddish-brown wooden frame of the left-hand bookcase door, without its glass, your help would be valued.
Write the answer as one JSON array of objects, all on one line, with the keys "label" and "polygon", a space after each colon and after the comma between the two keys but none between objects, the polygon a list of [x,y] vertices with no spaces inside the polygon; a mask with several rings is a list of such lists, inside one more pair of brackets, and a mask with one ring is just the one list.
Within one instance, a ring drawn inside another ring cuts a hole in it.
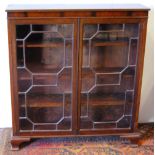
[{"label": "reddish-brown wooden frame of the left-hand bookcase door, without its glass", "polygon": [[[17,60],[16,60],[16,25],[22,24],[73,24],[74,40],[72,51],[72,122],[71,130],[58,131],[20,131],[19,123],[19,102],[18,102],[18,83],[17,83]],[[77,132],[77,34],[78,21],[76,18],[41,18],[41,19],[8,19],[8,39],[9,39],[9,62],[10,62],[10,83],[11,83],[11,106],[12,106],[12,128],[13,136],[52,136],[52,135],[71,135]],[[17,108],[18,107],[18,108]]]}]

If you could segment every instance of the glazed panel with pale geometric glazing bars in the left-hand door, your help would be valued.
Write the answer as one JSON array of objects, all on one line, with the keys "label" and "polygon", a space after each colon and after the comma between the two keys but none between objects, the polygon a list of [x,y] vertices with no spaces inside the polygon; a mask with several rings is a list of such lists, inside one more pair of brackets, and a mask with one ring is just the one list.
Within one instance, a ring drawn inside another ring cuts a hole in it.
[{"label": "glazed panel with pale geometric glazing bars in the left-hand door", "polygon": [[75,23],[74,19],[16,21],[20,132],[74,130]]}]

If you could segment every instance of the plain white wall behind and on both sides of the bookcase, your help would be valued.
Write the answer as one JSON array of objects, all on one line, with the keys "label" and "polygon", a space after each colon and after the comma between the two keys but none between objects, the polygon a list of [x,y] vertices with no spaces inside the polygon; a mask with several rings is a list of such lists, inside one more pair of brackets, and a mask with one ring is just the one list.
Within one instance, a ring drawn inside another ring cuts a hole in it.
[{"label": "plain white wall behind and on both sides of the bookcase", "polygon": [[[37,0],[37,4],[45,3],[115,3],[116,0]],[[33,2],[35,3],[35,2]],[[140,105],[139,122],[154,121],[154,16],[153,0],[117,0],[117,3],[140,3],[151,8],[148,21],[148,33],[146,43],[146,54],[144,62],[143,85]],[[10,97],[10,77],[9,77],[9,59],[8,59],[8,38],[7,38],[7,16],[5,9],[8,4],[32,4],[32,0],[4,0],[0,2],[0,128],[11,127],[11,97]]]}]

